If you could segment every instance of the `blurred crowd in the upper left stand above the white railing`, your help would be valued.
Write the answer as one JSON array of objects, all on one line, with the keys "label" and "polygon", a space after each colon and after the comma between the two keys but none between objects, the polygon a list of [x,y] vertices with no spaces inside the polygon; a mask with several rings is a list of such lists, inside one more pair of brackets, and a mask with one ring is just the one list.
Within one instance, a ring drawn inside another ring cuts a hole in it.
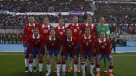
[{"label": "blurred crowd in the upper left stand above the white railing", "polygon": [[92,2],[85,0],[0,1],[0,10],[11,12],[92,11]]}]

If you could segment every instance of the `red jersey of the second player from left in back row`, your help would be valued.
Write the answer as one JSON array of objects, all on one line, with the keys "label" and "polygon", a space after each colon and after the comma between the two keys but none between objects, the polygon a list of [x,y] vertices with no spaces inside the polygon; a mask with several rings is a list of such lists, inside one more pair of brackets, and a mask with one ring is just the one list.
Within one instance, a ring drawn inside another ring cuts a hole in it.
[{"label": "red jersey of the second player from left in back row", "polygon": [[44,39],[47,39],[47,38],[48,38],[48,36],[50,35],[50,30],[51,30],[52,27],[53,27],[53,26],[50,25],[50,24],[47,25],[47,26],[42,25],[41,33],[42,33]]}]

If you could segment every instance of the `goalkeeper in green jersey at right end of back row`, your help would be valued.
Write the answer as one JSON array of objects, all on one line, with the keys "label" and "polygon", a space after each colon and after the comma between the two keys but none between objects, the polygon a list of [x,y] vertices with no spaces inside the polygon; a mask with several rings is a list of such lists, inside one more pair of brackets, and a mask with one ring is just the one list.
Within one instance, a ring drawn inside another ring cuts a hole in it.
[{"label": "goalkeeper in green jersey at right end of back row", "polygon": [[[109,36],[110,36],[110,29],[109,29],[109,25],[105,23],[104,17],[100,18],[100,22],[99,22],[99,24],[97,26],[97,36],[100,36],[100,33],[102,31],[105,31],[106,32],[105,33],[106,38],[109,38]],[[107,62],[105,57],[103,58],[103,60],[104,60],[104,68],[105,68],[103,72],[106,73],[106,72],[108,72],[107,71],[107,66],[108,66],[107,63],[108,62]]]}]

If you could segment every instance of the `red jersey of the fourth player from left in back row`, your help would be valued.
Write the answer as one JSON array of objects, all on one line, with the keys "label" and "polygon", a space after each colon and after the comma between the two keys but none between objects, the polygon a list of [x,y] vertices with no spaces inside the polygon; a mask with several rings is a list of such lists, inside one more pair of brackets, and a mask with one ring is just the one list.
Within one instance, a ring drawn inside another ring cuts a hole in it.
[{"label": "red jersey of the fourth player from left in back row", "polygon": [[72,36],[79,38],[79,36],[82,34],[83,27],[81,24],[77,24],[74,26],[72,23],[68,25],[67,28],[70,28],[72,30]]}]

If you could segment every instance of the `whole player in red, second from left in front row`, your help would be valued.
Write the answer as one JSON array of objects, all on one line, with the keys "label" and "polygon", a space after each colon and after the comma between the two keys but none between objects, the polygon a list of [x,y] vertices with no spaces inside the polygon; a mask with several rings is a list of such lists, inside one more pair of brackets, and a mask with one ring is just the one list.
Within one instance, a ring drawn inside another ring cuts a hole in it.
[{"label": "whole player in red, second from left in front row", "polygon": [[56,62],[57,62],[57,76],[60,76],[60,59],[59,55],[61,54],[60,52],[60,42],[56,36],[56,32],[54,28],[51,28],[50,30],[50,35],[48,36],[48,39],[45,42],[46,44],[46,49],[47,49],[47,73],[46,76],[49,76],[51,73],[51,59],[52,55],[56,57]]}]

